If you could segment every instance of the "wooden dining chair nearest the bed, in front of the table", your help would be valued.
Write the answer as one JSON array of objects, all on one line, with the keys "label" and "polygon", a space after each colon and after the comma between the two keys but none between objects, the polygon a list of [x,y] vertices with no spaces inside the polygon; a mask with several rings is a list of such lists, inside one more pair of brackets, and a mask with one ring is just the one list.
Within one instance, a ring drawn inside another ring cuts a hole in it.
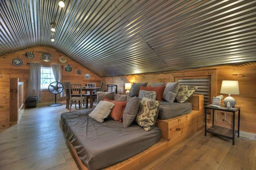
[{"label": "wooden dining chair nearest the bed, in front of the table", "polygon": [[86,106],[85,103],[87,101],[87,96],[82,94],[82,84],[79,83],[70,83],[69,84],[69,111],[71,111],[72,103],[75,103],[75,109],[76,109],[76,101],[78,101],[79,108],[82,109],[82,104]]}]

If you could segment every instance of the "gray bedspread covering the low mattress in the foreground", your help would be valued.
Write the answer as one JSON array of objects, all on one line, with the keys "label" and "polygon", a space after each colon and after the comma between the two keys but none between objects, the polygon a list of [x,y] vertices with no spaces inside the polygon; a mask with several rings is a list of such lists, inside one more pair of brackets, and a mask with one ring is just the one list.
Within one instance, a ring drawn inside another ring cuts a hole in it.
[{"label": "gray bedspread covering the low mattress in the foreground", "polygon": [[124,128],[106,118],[103,123],[88,116],[92,109],[61,114],[60,122],[78,157],[90,170],[101,169],[146,150],[161,138],[158,127],[145,131],[132,124]]}]

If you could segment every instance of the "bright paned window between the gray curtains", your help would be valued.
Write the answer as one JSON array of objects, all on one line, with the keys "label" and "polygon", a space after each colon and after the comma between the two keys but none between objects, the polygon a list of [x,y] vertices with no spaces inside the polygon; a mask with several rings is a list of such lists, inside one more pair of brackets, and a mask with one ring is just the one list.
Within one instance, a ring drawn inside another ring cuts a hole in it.
[{"label": "bright paned window between the gray curtains", "polygon": [[41,67],[41,89],[48,89],[50,83],[54,82],[52,67]]}]

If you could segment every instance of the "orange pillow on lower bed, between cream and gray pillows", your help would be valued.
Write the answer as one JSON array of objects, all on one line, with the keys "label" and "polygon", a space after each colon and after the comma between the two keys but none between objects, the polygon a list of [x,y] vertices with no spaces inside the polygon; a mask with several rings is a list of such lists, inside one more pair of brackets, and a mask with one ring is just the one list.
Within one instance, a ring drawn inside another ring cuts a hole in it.
[{"label": "orange pillow on lower bed, between cream and gray pillows", "polygon": [[121,123],[122,116],[124,113],[124,108],[126,106],[127,101],[114,101],[114,100],[108,99],[107,97],[105,97],[104,101],[109,101],[115,104],[108,116],[113,120],[117,121],[118,123]]}]

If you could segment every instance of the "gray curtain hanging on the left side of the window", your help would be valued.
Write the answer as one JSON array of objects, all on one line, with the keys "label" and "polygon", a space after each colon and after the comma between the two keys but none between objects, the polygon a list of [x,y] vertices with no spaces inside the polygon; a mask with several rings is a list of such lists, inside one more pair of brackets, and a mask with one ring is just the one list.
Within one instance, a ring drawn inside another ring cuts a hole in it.
[{"label": "gray curtain hanging on the left side of the window", "polygon": [[37,103],[41,103],[41,64],[31,63],[28,80],[28,97],[37,97]]}]

